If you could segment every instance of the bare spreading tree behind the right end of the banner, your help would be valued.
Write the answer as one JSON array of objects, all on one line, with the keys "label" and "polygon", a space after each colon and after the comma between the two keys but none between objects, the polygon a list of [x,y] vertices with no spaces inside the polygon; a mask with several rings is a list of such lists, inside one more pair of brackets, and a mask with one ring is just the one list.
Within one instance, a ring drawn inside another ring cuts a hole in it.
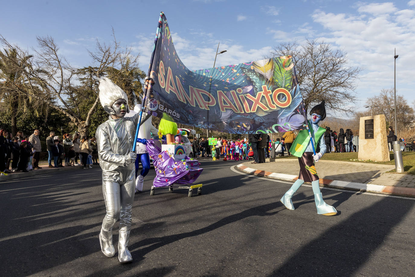
[{"label": "bare spreading tree behind the right end of the banner", "polygon": [[307,40],[304,45],[281,43],[271,51],[271,56],[287,55],[293,56],[306,109],[325,100],[330,110],[354,111],[354,91],[361,69],[349,65],[344,51],[318,40]]}]

